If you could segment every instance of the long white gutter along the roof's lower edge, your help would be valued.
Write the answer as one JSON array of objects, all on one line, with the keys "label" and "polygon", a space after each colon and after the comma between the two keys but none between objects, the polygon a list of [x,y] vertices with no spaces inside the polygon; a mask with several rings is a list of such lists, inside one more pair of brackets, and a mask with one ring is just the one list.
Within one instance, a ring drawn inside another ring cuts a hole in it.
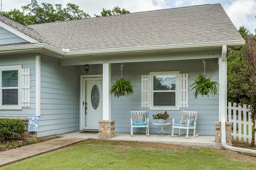
[{"label": "long white gutter along the roof's lower edge", "polygon": [[240,40],[240,41],[192,43],[192,44],[178,44],[178,45],[124,47],[124,48],[113,48],[113,49],[83,50],[83,51],[70,51],[69,49],[60,50],[50,45],[38,43],[38,44],[32,44],[32,45],[0,47],[0,52],[10,53],[10,52],[18,52],[18,51],[45,49],[59,55],[59,57],[72,57],[72,56],[82,56],[82,55],[103,55],[103,54],[134,53],[134,52],[162,51],[162,50],[174,50],[174,49],[210,48],[210,47],[222,47],[222,45],[242,46],[244,45],[244,43],[245,43],[244,40]]}]

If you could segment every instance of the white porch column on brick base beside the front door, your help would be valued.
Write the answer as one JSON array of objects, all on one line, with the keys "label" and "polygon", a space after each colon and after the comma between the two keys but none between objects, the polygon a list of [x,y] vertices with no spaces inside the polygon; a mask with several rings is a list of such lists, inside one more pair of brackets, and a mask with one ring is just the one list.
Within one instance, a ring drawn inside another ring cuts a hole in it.
[{"label": "white porch column on brick base beside the front door", "polygon": [[103,64],[102,69],[102,84],[103,84],[103,94],[102,94],[102,102],[103,102],[103,120],[111,119],[111,99],[110,99],[110,87],[111,87],[111,64],[105,63]]}]

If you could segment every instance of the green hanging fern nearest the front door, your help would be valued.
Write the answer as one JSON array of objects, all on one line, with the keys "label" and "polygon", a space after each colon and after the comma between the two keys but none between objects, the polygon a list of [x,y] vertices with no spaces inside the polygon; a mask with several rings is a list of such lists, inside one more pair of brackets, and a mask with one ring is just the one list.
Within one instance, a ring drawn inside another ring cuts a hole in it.
[{"label": "green hanging fern nearest the front door", "polygon": [[110,94],[114,94],[115,97],[119,98],[120,96],[130,96],[133,94],[133,85],[132,80],[130,79],[115,79],[116,82],[113,83],[113,86],[110,89]]}]

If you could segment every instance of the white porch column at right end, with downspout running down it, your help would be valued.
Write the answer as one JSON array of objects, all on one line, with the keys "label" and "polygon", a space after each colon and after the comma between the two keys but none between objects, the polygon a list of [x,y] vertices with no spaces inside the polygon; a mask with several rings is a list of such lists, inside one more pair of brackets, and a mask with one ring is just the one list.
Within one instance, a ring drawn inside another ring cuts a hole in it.
[{"label": "white porch column at right end, with downspout running down it", "polygon": [[226,45],[222,46],[222,57],[219,58],[218,63],[219,63],[219,84],[220,84],[219,86],[219,121],[221,121],[221,114],[226,115],[226,112],[227,112],[227,46]]}]

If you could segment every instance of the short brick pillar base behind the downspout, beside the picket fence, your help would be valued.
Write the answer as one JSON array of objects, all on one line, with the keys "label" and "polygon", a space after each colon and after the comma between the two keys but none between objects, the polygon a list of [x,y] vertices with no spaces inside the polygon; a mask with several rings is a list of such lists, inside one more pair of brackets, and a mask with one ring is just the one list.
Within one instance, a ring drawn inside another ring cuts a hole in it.
[{"label": "short brick pillar base behind the downspout, beside the picket fence", "polygon": [[[215,124],[215,142],[221,143],[221,122],[214,122]],[[232,146],[231,143],[231,122],[226,122],[226,144]]]}]

